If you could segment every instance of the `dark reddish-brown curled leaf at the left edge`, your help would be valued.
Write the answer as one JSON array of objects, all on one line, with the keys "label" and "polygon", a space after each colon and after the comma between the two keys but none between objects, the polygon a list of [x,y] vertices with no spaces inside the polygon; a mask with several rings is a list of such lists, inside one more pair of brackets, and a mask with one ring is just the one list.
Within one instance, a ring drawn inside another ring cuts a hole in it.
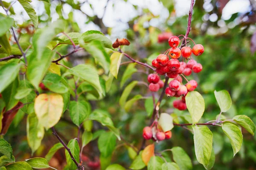
[{"label": "dark reddish-brown curled leaf at the left edge", "polygon": [[6,132],[9,129],[9,126],[11,125],[12,120],[14,119],[16,113],[22,107],[23,107],[23,103],[18,102],[18,104],[9,111],[5,111],[5,108],[3,108],[2,130],[1,130],[0,135],[6,134]]}]

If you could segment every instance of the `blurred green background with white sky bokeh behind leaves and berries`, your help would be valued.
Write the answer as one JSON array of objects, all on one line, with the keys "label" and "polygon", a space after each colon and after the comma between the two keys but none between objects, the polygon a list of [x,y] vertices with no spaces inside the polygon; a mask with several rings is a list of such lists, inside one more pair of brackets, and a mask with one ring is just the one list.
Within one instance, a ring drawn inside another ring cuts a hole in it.
[{"label": "blurred green background with white sky bokeh behind leaves and berries", "polygon": [[[29,41],[34,34],[28,15],[15,1],[10,12],[17,21],[16,31],[20,33],[20,42]],[[169,48],[170,35],[186,33],[190,0],[52,0],[51,3],[32,0],[32,5],[39,16],[38,27],[47,26],[52,21],[64,19],[68,23],[66,32],[83,33],[88,30],[99,30],[106,34],[112,42],[116,38],[126,38],[131,45],[123,48],[134,59],[151,63],[158,54]],[[4,13],[3,9],[0,12]],[[196,43],[204,45],[205,52],[194,59],[203,65],[203,71],[192,74],[188,79],[198,81],[197,90],[204,96],[206,110],[201,122],[214,120],[219,113],[214,90],[227,90],[233,105],[223,116],[231,119],[238,114],[249,116],[256,123],[256,0],[196,0],[192,15],[192,30],[189,37]],[[189,43],[191,44],[191,42]],[[192,45],[192,44],[191,44]],[[58,47],[61,54],[67,54],[68,45]],[[74,54],[66,61],[68,65],[90,62],[90,54],[85,51]],[[122,62],[128,61],[126,58]],[[136,102],[128,113],[119,108],[119,98],[126,85],[132,80],[145,81],[145,68],[136,66],[134,74],[128,82],[120,86],[122,74],[127,65],[121,65],[119,76],[114,79],[111,90],[104,99],[90,101],[92,109],[102,109],[112,116],[122,136],[140,147],[143,127],[148,125],[152,106],[150,92],[143,85],[136,86],[130,97],[141,94],[147,99]],[[100,69],[99,69],[100,73]],[[103,77],[107,75],[102,75]],[[163,77],[162,77],[163,78]],[[173,113],[177,122],[186,122],[187,111],[173,109],[174,99],[164,97],[162,112]],[[64,142],[77,136],[77,128],[72,125],[68,111],[64,113],[55,129]],[[102,127],[96,122],[86,122],[85,129],[102,133]],[[213,132],[213,148],[216,159],[213,170],[256,170],[256,136],[251,136],[242,129],[244,141],[239,153],[233,158],[233,150],[229,140],[221,128],[209,127]],[[174,146],[183,147],[193,162],[193,170],[204,170],[196,161],[193,136],[188,130],[175,127],[172,139],[156,145],[156,150],[164,150]],[[11,143],[16,161],[31,157],[26,140],[26,114],[17,113],[6,140]],[[97,140],[97,139],[96,139]],[[99,161],[99,150],[96,140],[84,148],[84,162]],[[45,156],[53,144],[55,136],[48,130],[41,147],[34,156]],[[150,142],[148,142],[150,143]],[[111,162],[129,167],[132,162],[131,152],[117,143]],[[170,155],[168,155],[170,154]],[[171,153],[166,153],[167,160],[172,160]],[[59,150],[49,164],[61,170],[66,165],[64,149]],[[98,167],[87,167],[97,169]]]}]

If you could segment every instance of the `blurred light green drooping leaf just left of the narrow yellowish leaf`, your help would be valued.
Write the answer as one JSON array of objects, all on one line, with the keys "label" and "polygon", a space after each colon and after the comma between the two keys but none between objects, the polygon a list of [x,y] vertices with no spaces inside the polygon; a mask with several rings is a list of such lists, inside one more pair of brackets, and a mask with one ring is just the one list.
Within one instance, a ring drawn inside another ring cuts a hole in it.
[{"label": "blurred light green drooping leaf just left of the narrow yellowish leaf", "polygon": [[99,62],[99,65],[101,65],[106,74],[108,74],[110,68],[110,58],[105,49],[102,47],[101,42],[93,41],[81,47],[88,51],[96,60],[96,63]]}]

